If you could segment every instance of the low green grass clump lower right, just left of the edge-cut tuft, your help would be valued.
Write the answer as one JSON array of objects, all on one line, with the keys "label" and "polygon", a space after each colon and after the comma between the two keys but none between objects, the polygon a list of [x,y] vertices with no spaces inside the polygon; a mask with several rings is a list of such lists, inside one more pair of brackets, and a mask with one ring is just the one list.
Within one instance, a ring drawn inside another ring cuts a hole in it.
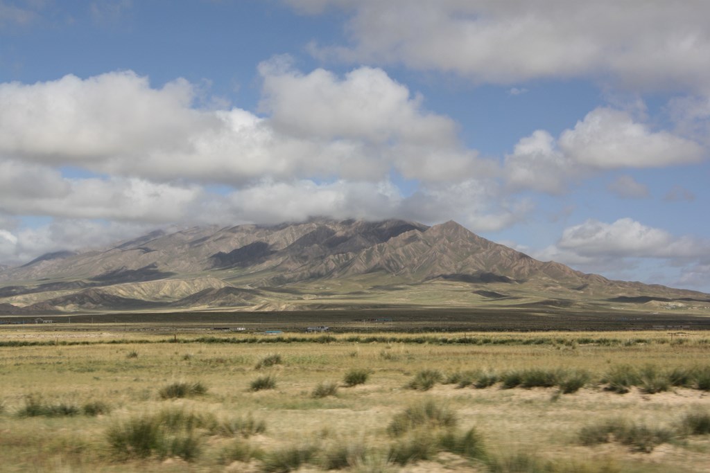
[{"label": "low green grass clump lower right, just left of the edge-cut tuft", "polygon": [[611,419],[595,425],[586,425],[579,430],[579,442],[582,445],[596,445],[616,441],[628,445],[636,452],[650,453],[662,443],[674,438],[672,430],[650,428],[620,419]]}]

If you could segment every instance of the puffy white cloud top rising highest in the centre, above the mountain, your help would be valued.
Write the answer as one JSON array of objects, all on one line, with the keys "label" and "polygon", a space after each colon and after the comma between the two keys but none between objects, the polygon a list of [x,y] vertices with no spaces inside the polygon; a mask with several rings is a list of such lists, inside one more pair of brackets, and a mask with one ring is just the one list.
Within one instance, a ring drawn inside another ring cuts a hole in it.
[{"label": "puffy white cloud top rising highest in the centre, above the mountain", "polygon": [[456,126],[422,109],[422,97],[382,69],[359,67],[340,79],[315,69],[302,74],[283,57],[259,65],[263,78],[261,111],[275,130],[300,137],[362,139],[372,143],[451,145]]}]

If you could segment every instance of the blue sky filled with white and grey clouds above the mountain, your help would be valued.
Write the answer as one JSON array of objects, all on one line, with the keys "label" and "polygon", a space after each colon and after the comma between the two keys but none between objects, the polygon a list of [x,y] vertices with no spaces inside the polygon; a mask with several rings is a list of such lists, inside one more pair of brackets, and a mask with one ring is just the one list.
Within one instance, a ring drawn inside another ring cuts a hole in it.
[{"label": "blue sky filled with white and grey clouds above the mountain", "polygon": [[454,220],[710,292],[706,0],[0,0],[0,264]]}]

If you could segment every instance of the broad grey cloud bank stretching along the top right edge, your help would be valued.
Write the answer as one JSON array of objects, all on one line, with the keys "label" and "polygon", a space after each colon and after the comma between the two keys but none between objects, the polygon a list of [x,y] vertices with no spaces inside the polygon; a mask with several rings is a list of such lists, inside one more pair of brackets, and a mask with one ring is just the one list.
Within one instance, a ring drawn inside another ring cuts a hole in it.
[{"label": "broad grey cloud bank stretching along the top right edge", "polygon": [[285,1],[307,13],[333,6],[351,15],[349,45],[313,45],[319,57],[403,63],[474,82],[591,76],[635,88],[708,89],[704,2]]}]

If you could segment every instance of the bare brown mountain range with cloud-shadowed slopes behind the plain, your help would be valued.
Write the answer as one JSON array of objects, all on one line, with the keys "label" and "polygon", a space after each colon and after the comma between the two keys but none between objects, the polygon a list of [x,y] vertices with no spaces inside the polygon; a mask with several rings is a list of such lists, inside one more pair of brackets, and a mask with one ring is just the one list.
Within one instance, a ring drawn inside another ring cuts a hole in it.
[{"label": "bare brown mountain range with cloud-shadowed slopes behind the plain", "polygon": [[709,301],[697,291],[541,262],[453,221],[312,219],[155,231],[0,272],[0,313],[531,304],[658,311],[704,310]]}]

